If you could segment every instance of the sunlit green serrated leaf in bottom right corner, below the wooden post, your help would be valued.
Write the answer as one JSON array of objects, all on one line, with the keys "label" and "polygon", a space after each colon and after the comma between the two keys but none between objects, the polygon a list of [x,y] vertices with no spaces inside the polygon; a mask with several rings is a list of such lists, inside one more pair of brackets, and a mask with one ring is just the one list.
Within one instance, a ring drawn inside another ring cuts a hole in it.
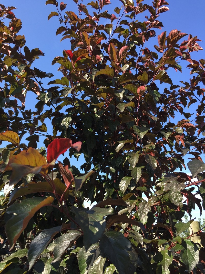
[{"label": "sunlit green serrated leaf in bottom right corner, below the wooden post", "polygon": [[190,273],[199,262],[199,250],[197,245],[190,240],[184,240],[181,245],[183,249],[181,249],[180,257]]}]

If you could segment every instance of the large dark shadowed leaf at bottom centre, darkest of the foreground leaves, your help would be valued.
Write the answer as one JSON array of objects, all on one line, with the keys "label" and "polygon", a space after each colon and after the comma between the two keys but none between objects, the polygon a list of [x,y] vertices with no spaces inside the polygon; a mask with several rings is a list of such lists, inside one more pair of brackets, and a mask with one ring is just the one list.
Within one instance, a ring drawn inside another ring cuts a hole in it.
[{"label": "large dark shadowed leaf at bottom centre, darkest of the foreground leaves", "polygon": [[135,266],[130,262],[130,241],[121,232],[105,232],[100,241],[101,252],[114,264],[119,274],[134,274]]}]

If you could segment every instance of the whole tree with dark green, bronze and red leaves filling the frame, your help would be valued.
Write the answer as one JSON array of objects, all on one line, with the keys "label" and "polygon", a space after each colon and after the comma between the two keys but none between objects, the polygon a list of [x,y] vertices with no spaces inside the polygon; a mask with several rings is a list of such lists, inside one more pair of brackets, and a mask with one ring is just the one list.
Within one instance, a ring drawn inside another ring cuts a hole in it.
[{"label": "whole tree with dark green, bronze and red leaves filling the frame", "polygon": [[[43,53],[25,46],[14,7],[0,4],[0,139],[9,142],[1,149],[0,253],[9,255],[1,271],[204,273],[204,232],[197,232],[201,245],[179,236],[192,222],[181,221],[184,212],[203,210],[196,188],[205,204],[205,60],[191,58],[200,40],[172,30],[158,35],[156,51],[146,47],[163,27],[164,0],[121,0],[112,14],[109,0],[74,2],[77,12],[46,1],[55,8],[48,19],[60,20],[56,34],[70,41],[52,61],[63,77],[49,88],[42,79],[53,75],[33,66]],[[169,76],[181,71],[180,60],[192,75],[181,86]],[[34,112],[25,109],[28,91],[37,95]],[[178,112],[185,118],[175,123]],[[83,173],[67,157],[56,163],[67,149],[70,158],[84,155]],[[182,170],[187,156],[191,176]],[[95,206],[86,209],[86,199]]]}]

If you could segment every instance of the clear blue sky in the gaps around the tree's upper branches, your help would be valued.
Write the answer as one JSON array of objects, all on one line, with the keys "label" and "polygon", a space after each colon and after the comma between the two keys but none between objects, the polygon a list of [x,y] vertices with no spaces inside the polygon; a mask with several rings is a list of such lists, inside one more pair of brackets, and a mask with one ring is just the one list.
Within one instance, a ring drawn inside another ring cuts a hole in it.
[{"label": "clear blue sky in the gaps around the tree's upper branches", "polygon": [[[112,6],[121,7],[122,3],[119,0],[110,0]],[[162,31],[169,33],[172,29],[178,29],[182,32],[192,34],[192,36],[198,36],[199,39],[203,40],[200,42],[200,46],[205,48],[205,27],[204,27],[204,11],[205,11],[205,0],[167,0],[169,2],[169,11],[162,13],[159,20],[163,22],[164,28]],[[51,81],[56,78],[61,78],[62,74],[57,72],[58,65],[51,65],[52,60],[56,56],[62,56],[64,49],[70,49],[69,39],[65,39],[60,43],[61,34],[55,36],[57,28],[60,23],[57,16],[52,17],[48,21],[48,15],[51,11],[55,11],[54,5],[45,5],[46,0],[0,0],[0,3],[5,6],[14,6],[17,9],[13,10],[17,18],[22,21],[22,29],[19,34],[25,35],[26,45],[30,48],[39,48],[45,54],[44,57],[40,56],[34,62],[34,66],[42,71],[51,72],[55,75],[55,78],[51,78]],[[83,1],[83,4],[87,4],[89,1]],[[60,1],[59,1],[60,3]],[[66,11],[76,11],[76,4],[72,0],[65,1],[67,3]],[[150,0],[145,0],[144,3],[150,4]],[[109,9],[109,6],[108,6]],[[144,13],[143,13],[144,16]],[[146,20],[141,17],[139,20]],[[157,35],[162,32],[159,30]],[[154,38],[156,41],[156,38]],[[151,44],[157,44],[152,42]],[[153,48],[154,50],[154,48]],[[192,54],[193,59],[205,59],[204,51],[194,52]],[[183,63],[184,62],[184,63]],[[172,70],[171,78],[174,78],[174,84],[178,84],[179,81],[187,81],[190,78],[189,70],[186,67],[185,61],[181,63],[183,67],[183,73],[175,72]],[[45,81],[45,85],[47,82]],[[34,107],[32,105],[33,99],[35,100],[36,95],[29,92],[26,100],[26,108],[30,109]],[[182,119],[182,118],[180,118]],[[39,146],[42,146],[42,142]],[[76,164],[73,162],[72,164]],[[79,164],[78,164],[79,165]],[[197,210],[198,211],[198,210]],[[194,215],[194,214],[193,214]],[[204,216],[202,216],[203,218]]]}]

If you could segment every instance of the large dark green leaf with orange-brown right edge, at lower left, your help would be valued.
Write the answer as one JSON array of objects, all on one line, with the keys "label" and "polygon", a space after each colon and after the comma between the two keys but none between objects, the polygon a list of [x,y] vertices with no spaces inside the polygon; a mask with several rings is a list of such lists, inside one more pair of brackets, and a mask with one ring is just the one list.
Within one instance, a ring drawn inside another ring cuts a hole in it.
[{"label": "large dark green leaf with orange-brown right edge, at lower left", "polygon": [[6,210],[7,214],[13,214],[6,222],[5,229],[10,243],[10,250],[14,247],[21,232],[27,227],[29,220],[37,210],[43,206],[48,206],[53,202],[53,197],[34,197],[25,199],[17,204],[13,204]]}]

